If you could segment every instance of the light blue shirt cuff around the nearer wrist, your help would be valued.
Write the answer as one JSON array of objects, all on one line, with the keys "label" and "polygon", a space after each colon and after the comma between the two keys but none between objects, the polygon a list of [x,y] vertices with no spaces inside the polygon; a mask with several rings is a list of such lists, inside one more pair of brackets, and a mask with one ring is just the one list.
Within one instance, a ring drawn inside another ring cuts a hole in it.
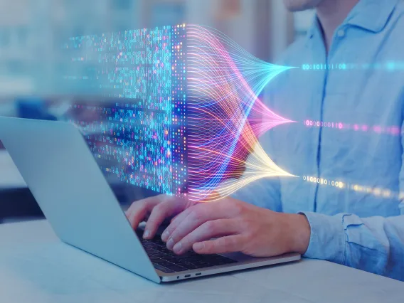
[{"label": "light blue shirt cuff around the nearer wrist", "polygon": [[342,218],[305,211],[299,214],[306,216],[311,231],[309,247],[303,257],[344,264],[346,235]]}]

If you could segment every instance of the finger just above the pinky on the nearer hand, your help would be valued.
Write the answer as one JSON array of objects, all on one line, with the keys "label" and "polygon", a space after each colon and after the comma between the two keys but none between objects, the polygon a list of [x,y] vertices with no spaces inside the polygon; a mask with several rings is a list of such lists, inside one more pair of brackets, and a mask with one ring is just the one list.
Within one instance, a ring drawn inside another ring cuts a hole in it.
[{"label": "finger just above the pinky on the nearer hand", "polygon": [[211,238],[223,237],[239,233],[239,227],[234,219],[211,220],[203,223],[191,233],[174,245],[174,252],[181,255],[191,250],[193,244],[210,240]]}]

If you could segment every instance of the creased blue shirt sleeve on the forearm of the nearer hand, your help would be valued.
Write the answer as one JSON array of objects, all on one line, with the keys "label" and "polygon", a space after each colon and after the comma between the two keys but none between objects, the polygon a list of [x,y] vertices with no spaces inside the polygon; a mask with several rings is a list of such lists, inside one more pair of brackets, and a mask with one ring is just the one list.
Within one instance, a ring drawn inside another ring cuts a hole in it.
[{"label": "creased blue shirt sleeve on the forearm of the nearer hand", "polygon": [[[404,146],[404,128],[402,127]],[[402,156],[404,163],[404,155]],[[304,257],[329,260],[404,281],[404,168],[400,176],[400,216],[359,218],[340,213],[302,212],[311,235]]]}]

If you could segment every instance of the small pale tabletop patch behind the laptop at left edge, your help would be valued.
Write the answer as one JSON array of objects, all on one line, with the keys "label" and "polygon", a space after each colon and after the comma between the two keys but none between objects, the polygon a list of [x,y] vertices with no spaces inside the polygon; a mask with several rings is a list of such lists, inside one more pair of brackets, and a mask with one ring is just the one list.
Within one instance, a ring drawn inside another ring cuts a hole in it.
[{"label": "small pale tabletop patch behind the laptop at left edge", "polygon": [[26,183],[9,153],[0,149],[0,190],[9,188],[26,188]]}]

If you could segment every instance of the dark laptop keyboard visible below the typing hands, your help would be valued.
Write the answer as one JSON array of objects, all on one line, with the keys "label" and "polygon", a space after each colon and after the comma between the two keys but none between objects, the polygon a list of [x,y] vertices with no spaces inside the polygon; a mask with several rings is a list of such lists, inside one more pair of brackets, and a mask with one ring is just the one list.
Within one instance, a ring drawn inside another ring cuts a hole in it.
[{"label": "dark laptop keyboard visible below the typing hands", "polygon": [[136,233],[154,268],[161,270],[161,272],[183,272],[237,262],[222,255],[198,255],[193,251],[186,252],[184,255],[176,255],[166,248],[166,243],[159,236],[145,240],[142,238],[143,230],[136,230]]}]

